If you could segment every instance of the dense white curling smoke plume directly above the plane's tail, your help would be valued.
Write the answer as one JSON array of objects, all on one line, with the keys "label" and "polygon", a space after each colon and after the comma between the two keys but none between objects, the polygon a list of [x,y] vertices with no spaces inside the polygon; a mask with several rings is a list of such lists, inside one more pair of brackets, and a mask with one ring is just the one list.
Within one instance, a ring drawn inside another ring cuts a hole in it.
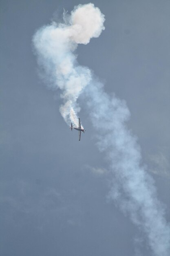
[{"label": "dense white curling smoke plume directly above the plane's tail", "polygon": [[[65,13],[64,13],[65,14]],[[75,7],[71,16],[64,15],[65,24],[53,22],[42,27],[33,37],[40,65],[50,78],[53,89],[60,88],[64,104],[60,107],[67,124],[77,126],[76,101],[91,81],[91,72],[78,65],[73,51],[78,43],[87,44],[104,29],[104,15],[94,4]]]}]

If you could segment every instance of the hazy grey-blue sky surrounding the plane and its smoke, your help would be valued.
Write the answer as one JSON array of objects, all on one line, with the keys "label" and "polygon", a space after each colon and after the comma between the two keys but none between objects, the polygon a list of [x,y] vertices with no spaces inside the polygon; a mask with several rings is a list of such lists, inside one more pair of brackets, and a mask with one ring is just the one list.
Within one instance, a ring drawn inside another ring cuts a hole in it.
[{"label": "hazy grey-blue sky surrounding the plane and its smoke", "polygon": [[[0,1],[0,254],[150,256],[144,236],[114,202],[110,173],[88,112],[78,141],[62,119],[60,92],[38,76],[35,31],[88,1]],[[170,221],[170,1],[93,1],[105,30],[76,54],[125,99],[128,127]],[[79,101],[81,105],[81,101]]]}]

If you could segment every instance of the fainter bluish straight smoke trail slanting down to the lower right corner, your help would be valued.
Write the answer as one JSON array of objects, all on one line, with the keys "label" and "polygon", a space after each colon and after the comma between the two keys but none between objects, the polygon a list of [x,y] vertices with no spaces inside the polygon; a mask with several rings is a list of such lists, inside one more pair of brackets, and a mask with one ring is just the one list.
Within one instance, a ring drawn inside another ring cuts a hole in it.
[{"label": "fainter bluish straight smoke trail slanting down to the lower right corner", "polygon": [[[132,222],[147,235],[156,256],[168,256],[170,226],[157,200],[152,178],[141,166],[140,148],[136,138],[126,128],[130,113],[124,101],[110,98],[101,84],[87,88],[89,114],[98,134],[98,146],[106,151],[113,173],[113,184],[108,198],[115,200]],[[96,125],[98,124],[98,125]]]}]

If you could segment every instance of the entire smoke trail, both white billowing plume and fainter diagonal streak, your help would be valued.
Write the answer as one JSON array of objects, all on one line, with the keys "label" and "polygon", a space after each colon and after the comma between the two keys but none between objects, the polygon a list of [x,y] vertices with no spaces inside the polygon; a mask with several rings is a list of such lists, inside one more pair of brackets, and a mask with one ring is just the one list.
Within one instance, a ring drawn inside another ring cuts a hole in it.
[{"label": "entire smoke trail, both white billowing plume and fainter diagonal streak", "polygon": [[105,151],[113,173],[109,198],[115,200],[132,222],[146,234],[156,256],[168,256],[170,227],[163,206],[157,200],[152,178],[141,165],[140,148],[126,127],[130,112],[126,103],[104,92],[87,67],[78,65],[73,54],[78,43],[89,43],[104,29],[104,15],[94,4],[79,5],[64,23],[53,22],[39,29],[33,37],[38,61],[43,67],[49,87],[62,92],[62,117],[67,124],[77,125],[80,108],[77,98],[83,92],[99,150]]}]

